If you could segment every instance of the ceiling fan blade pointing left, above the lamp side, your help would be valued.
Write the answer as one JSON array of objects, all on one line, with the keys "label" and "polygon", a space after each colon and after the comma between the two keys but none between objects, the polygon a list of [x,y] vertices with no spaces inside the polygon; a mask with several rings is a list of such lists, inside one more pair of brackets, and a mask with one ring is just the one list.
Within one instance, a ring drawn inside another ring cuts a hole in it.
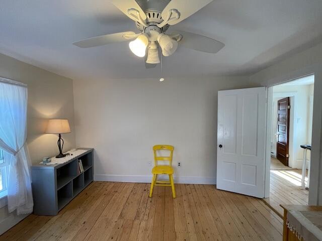
[{"label": "ceiling fan blade pointing left, above the lamp side", "polygon": [[101,35],[101,36],[81,40],[78,42],[74,42],[72,44],[81,48],[91,48],[91,47],[102,46],[102,45],[116,43],[116,42],[128,41],[131,39],[131,38],[124,38],[123,37],[124,35],[133,35],[134,36],[133,38],[135,38],[134,32],[121,32],[116,34]]}]

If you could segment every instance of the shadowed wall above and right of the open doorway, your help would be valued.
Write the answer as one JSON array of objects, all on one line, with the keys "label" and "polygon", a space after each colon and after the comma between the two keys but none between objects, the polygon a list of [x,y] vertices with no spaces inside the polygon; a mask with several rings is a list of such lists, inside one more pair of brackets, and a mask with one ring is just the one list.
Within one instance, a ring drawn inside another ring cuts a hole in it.
[{"label": "shadowed wall above and right of the open doorway", "polygon": [[295,54],[250,77],[254,84],[272,86],[314,73],[311,177],[309,204],[322,205],[322,44]]}]

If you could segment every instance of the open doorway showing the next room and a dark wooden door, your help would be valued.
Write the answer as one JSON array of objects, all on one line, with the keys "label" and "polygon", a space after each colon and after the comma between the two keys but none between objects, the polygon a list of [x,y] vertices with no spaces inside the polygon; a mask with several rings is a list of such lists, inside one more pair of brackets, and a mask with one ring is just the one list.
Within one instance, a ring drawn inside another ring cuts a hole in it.
[{"label": "open doorway showing the next room and a dark wooden door", "polygon": [[313,89],[314,75],[269,89],[264,200],[280,215],[280,204],[308,204],[310,151],[301,146],[311,145]]}]

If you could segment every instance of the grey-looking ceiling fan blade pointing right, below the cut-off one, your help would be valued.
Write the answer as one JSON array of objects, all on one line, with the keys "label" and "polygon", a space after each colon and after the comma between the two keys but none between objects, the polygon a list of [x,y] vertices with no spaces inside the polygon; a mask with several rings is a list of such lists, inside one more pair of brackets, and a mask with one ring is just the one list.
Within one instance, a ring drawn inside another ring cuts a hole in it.
[{"label": "grey-looking ceiling fan blade pointing right, below the cut-off one", "polygon": [[181,30],[176,30],[176,34],[182,35],[182,40],[179,42],[180,46],[205,53],[215,54],[225,46],[223,43],[215,39],[211,39],[199,34],[194,34]]}]

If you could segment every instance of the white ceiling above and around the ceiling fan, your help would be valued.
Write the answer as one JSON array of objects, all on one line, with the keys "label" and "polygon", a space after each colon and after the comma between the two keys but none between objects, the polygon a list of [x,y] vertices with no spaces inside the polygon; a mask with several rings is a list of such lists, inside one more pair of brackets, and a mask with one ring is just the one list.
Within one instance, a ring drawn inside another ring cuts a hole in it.
[{"label": "white ceiling above and around the ceiling fan", "polygon": [[[0,52],[77,78],[248,75],[322,42],[321,0],[214,0],[172,29],[225,44],[217,54],[179,47],[145,69],[127,43],[82,49],[85,38],[137,32],[108,0],[1,0]],[[0,73],[1,76],[1,73]]]}]

